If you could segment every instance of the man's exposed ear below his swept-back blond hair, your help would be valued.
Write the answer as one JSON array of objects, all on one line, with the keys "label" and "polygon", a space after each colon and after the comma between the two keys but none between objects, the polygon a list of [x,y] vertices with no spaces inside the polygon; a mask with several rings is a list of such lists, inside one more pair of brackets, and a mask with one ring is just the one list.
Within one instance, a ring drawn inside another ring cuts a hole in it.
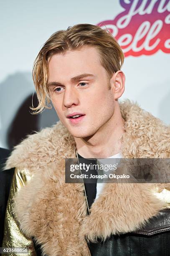
[{"label": "man's exposed ear below his swept-back blond hair", "polygon": [[118,100],[124,93],[125,75],[118,70],[110,79],[110,87],[114,94],[114,100]]}]

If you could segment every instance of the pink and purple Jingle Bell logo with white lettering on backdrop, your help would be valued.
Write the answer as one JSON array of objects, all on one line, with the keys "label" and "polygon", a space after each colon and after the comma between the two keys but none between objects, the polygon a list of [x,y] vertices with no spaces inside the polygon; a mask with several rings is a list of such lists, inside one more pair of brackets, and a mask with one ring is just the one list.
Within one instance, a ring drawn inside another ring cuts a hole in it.
[{"label": "pink and purple Jingle Bell logo with white lettering on backdrop", "polygon": [[120,0],[124,8],[114,20],[97,25],[117,39],[125,56],[170,53],[170,0]]}]

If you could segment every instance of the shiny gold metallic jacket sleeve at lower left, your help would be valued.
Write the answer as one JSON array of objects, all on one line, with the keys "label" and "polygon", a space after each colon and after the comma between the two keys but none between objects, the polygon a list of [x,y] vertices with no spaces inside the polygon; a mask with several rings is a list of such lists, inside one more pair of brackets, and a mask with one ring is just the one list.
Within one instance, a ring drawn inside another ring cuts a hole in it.
[{"label": "shiny gold metallic jacket sleeve at lower left", "polygon": [[8,254],[2,254],[4,256],[36,256],[36,252],[33,247],[33,241],[21,233],[18,220],[16,219],[12,209],[13,196],[21,187],[26,184],[28,180],[30,180],[30,178],[31,177],[28,175],[27,170],[20,170],[15,168],[5,213],[4,238],[2,245],[2,247],[6,248],[27,248],[28,253],[19,254],[17,252],[10,252]]}]

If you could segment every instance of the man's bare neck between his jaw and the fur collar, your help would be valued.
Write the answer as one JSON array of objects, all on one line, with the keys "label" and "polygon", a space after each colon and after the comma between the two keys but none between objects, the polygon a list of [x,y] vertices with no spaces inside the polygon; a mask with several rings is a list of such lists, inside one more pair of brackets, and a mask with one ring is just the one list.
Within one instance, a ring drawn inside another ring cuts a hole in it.
[{"label": "man's bare neck between his jaw and the fur collar", "polygon": [[93,136],[74,138],[78,153],[84,158],[107,158],[121,151],[121,136],[124,133],[124,120],[119,106],[114,115]]}]

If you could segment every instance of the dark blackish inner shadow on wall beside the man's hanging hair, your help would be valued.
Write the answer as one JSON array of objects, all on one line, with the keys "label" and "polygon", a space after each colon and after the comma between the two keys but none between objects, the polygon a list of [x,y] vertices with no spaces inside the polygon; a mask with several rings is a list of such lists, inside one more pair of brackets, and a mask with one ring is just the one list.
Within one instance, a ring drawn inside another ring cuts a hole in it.
[{"label": "dark blackish inner shadow on wall beside the man's hanging hair", "polygon": [[7,132],[8,148],[12,149],[29,134],[33,134],[42,128],[56,123],[57,115],[53,108],[50,110],[46,109],[38,115],[33,115],[33,111],[30,109],[32,103],[34,107],[38,106],[36,94],[28,96],[18,109]]}]

